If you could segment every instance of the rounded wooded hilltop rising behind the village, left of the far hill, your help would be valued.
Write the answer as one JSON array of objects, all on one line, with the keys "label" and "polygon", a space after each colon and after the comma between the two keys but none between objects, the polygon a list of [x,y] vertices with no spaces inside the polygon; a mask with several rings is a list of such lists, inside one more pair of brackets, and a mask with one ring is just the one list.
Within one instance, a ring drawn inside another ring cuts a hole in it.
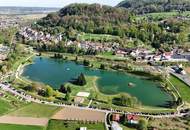
[{"label": "rounded wooded hilltop rising behind the village, left of the far hill", "polygon": [[[121,25],[130,21],[127,9],[99,4],[71,4],[38,21],[42,27],[61,27],[66,30],[96,34],[118,35]],[[70,31],[72,32],[72,31]]]}]

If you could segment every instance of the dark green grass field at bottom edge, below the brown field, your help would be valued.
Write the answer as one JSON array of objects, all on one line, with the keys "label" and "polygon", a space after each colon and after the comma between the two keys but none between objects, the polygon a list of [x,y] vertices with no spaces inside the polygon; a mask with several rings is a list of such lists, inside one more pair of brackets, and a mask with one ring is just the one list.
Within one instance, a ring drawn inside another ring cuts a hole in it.
[{"label": "dark green grass field at bottom edge, below the brown field", "polygon": [[88,130],[105,130],[103,123],[90,124],[59,120],[50,120],[47,130],[77,130],[80,127],[87,127]]}]

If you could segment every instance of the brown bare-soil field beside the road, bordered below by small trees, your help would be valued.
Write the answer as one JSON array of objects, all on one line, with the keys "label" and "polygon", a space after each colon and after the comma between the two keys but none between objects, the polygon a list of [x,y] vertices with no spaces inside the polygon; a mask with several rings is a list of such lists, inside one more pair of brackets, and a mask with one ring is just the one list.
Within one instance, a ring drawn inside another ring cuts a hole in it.
[{"label": "brown bare-soil field beside the road, bordered below by small trees", "polygon": [[76,108],[63,108],[52,117],[52,119],[58,120],[80,120],[96,122],[104,122],[104,118],[105,113],[103,112],[81,110]]}]

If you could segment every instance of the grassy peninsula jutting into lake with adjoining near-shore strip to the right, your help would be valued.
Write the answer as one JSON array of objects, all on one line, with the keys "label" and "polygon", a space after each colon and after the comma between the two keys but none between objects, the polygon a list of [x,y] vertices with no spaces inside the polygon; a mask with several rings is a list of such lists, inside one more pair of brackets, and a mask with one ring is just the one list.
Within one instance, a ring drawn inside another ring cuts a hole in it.
[{"label": "grassy peninsula jutting into lake with adjoining near-shore strip to the right", "polygon": [[[96,100],[93,100],[92,106],[98,108],[113,108],[122,111],[130,111],[130,112],[149,112],[149,113],[159,113],[159,112],[175,112],[175,109],[170,108],[162,108],[162,107],[152,107],[152,106],[144,106],[144,105],[136,105],[133,107],[122,107],[111,104],[111,100],[115,97],[119,97],[120,94],[116,95],[106,95],[99,91],[96,81],[98,77],[87,76],[87,84],[85,86],[77,86],[71,83],[65,84],[65,86],[70,86],[72,89],[72,96],[75,96],[79,91],[85,91],[95,94]],[[130,96],[130,95],[129,95]]]}]

